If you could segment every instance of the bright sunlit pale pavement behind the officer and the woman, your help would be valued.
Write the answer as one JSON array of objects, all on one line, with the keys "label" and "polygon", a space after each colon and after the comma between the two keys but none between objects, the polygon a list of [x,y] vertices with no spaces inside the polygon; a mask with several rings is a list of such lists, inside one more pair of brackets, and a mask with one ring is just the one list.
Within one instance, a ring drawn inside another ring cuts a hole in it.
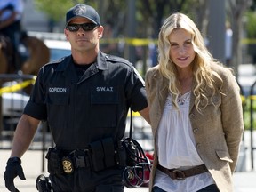
[{"label": "bright sunlit pale pavement behind the officer and the woman", "polygon": [[[256,132],[254,132],[254,140],[256,141]],[[254,146],[256,143],[254,144]],[[251,171],[251,157],[250,157],[250,132],[244,133],[244,146],[247,150],[241,151],[239,160],[240,172],[235,172],[235,192],[255,192],[256,191],[256,169],[254,164],[254,171]],[[10,150],[0,150],[0,191],[7,192],[4,188],[4,169],[5,163],[10,156]],[[27,180],[23,181],[16,179],[16,186],[20,189],[20,192],[36,192],[36,177],[42,173],[42,152],[38,150],[28,150],[22,157],[22,166]],[[256,151],[254,151],[254,162],[256,163]],[[44,164],[46,167],[46,164]],[[43,172],[47,175],[47,172]],[[125,192],[144,192],[148,191],[148,188],[125,188]]]}]

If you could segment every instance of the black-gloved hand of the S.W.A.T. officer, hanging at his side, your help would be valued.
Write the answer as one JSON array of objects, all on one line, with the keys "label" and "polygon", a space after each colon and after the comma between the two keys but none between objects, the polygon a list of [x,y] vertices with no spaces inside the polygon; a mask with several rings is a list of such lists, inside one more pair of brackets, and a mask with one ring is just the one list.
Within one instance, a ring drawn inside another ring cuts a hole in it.
[{"label": "black-gloved hand of the S.W.A.T. officer, hanging at his side", "polygon": [[20,177],[21,180],[26,180],[23,169],[20,165],[21,160],[19,157],[11,157],[7,161],[7,165],[4,172],[4,180],[5,180],[5,187],[8,188],[12,192],[19,192],[17,188],[14,186],[14,178],[17,175]]}]

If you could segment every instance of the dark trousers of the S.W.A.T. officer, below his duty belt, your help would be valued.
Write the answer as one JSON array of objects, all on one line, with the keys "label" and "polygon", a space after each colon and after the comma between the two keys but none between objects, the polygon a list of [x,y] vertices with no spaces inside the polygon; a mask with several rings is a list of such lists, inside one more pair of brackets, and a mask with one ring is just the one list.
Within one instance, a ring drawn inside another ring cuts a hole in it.
[{"label": "dark trousers of the S.W.A.T. officer, below his duty belt", "polygon": [[114,168],[100,172],[78,168],[71,174],[50,174],[50,180],[54,192],[124,192],[122,172]]}]

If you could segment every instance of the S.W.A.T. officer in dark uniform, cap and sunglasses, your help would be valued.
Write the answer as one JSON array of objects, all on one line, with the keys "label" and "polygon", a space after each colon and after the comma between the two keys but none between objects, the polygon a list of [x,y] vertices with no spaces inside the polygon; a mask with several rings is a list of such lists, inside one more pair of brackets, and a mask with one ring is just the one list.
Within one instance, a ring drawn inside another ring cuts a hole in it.
[{"label": "S.W.A.T. officer in dark uniform, cap and sunglasses", "polygon": [[46,156],[55,192],[124,191],[120,140],[128,108],[149,123],[148,102],[144,82],[132,64],[100,52],[103,30],[91,6],[77,4],[67,12],[64,33],[71,55],[38,73],[4,172],[9,190],[17,190],[17,175],[25,180],[20,158],[39,122],[47,121],[55,143]]}]

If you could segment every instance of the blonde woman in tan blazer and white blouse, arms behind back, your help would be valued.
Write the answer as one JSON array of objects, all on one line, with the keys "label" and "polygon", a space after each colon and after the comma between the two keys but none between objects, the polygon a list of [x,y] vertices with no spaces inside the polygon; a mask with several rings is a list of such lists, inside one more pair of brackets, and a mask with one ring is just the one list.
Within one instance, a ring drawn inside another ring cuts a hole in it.
[{"label": "blonde woman in tan blazer and white blouse, arms behind back", "polygon": [[150,191],[230,192],[244,132],[235,76],[180,12],[164,21],[158,40],[158,65],[146,74],[155,140]]}]

